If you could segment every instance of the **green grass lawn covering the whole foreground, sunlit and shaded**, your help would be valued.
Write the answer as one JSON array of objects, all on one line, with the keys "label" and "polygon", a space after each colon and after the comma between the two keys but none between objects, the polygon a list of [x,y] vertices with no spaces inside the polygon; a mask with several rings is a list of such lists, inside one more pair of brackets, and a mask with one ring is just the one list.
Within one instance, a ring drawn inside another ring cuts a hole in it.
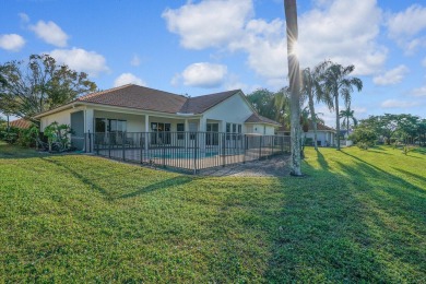
[{"label": "green grass lawn covering the whole foreground, sunlit and shaded", "polygon": [[0,144],[1,282],[426,282],[426,154],[214,178]]}]

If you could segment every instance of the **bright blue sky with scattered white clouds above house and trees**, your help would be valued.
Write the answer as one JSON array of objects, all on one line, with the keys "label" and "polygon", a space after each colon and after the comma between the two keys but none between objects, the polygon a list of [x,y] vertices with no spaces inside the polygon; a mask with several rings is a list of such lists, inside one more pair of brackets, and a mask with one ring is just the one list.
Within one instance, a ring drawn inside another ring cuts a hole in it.
[{"label": "bright blue sky with scattered white clouds above house and trees", "polygon": [[[297,1],[301,67],[355,64],[358,118],[426,117],[426,1]],[[287,84],[279,0],[4,0],[0,62],[50,54],[99,88],[137,83],[198,96]],[[342,106],[343,107],[343,106]],[[317,109],[333,126],[333,114]]]}]

